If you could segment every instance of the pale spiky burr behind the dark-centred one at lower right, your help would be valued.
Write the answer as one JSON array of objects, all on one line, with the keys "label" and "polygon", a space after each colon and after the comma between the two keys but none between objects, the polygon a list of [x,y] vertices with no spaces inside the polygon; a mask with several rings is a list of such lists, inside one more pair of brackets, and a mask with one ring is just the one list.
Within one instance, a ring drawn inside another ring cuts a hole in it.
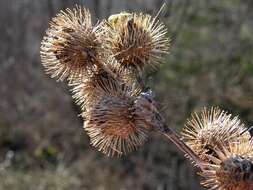
[{"label": "pale spiky burr behind the dark-centred one at lower right", "polygon": [[217,107],[204,108],[201,114],[194,113],[188,119],[182,137],[203,161],[209,161],[206,155],[215,156],[216,147],[236,141],[244,129],[238,117],[233,118]]}]

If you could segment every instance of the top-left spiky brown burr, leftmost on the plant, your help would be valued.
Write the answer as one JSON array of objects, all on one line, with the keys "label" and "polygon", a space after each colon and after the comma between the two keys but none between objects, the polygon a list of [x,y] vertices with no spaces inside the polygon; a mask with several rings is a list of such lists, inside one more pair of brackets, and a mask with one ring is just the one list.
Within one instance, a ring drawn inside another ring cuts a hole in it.
[{"label": "top-left spiky brown burr, leftmost on the plant", "polygon": [[46,71],[59,80],[84,76],[101,66],[101,43],[87,9],[77,6],[52,19],[42,40],[41,60]]}]

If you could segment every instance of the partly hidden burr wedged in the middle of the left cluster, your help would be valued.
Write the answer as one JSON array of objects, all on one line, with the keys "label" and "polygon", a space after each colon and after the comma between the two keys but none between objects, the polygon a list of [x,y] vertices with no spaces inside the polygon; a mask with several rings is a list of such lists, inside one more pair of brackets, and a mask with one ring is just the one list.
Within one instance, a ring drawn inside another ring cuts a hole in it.
[{"label": "partly hidden burr wedged in the middle of the left cluster", "polygon": [[124,78],[114,73],[108,65],[107,72],[103,69],[92,72],[81,80],[69,83],[72,87],[73,98],[83,111],[91,108],[104,95],[122,95],[124,93],[134,96],[140,93],[138,85],[126,83]]}]

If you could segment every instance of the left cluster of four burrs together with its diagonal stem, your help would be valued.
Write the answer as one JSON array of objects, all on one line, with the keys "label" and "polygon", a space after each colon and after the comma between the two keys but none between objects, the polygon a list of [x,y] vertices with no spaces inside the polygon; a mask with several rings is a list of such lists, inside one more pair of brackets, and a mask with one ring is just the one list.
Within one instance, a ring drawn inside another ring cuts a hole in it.
[{"label": "left cluster of four burrs together with its diagonal stem", "polygon": [[152,93],[140,92],[136,82],[136,72],[158,65],[167,53],[166,32],[156,17],[135,13],[111,16],[107,25],[94,27],[88,10],[77,6],[51,22],[42,41],[42,64],[52,77],[68,79],[84,129],[102,152],[126,154],[142,145],[148,132],[158,131],[201,167],[198,156],[166,126]]}]

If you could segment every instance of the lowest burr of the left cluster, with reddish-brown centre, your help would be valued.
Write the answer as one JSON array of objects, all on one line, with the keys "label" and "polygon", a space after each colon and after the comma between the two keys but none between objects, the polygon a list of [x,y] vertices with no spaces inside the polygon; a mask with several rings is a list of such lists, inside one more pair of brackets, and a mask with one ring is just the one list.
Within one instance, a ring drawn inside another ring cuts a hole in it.
[{"label": "lowest burr of the left cluster, with reddish-brown centre", "polygon": [[91,144],[108,156],[121,156],[141,146],[151,127],[135,104],[135,96],[120,90],[104,95],[83,113],[84,129]]}]

